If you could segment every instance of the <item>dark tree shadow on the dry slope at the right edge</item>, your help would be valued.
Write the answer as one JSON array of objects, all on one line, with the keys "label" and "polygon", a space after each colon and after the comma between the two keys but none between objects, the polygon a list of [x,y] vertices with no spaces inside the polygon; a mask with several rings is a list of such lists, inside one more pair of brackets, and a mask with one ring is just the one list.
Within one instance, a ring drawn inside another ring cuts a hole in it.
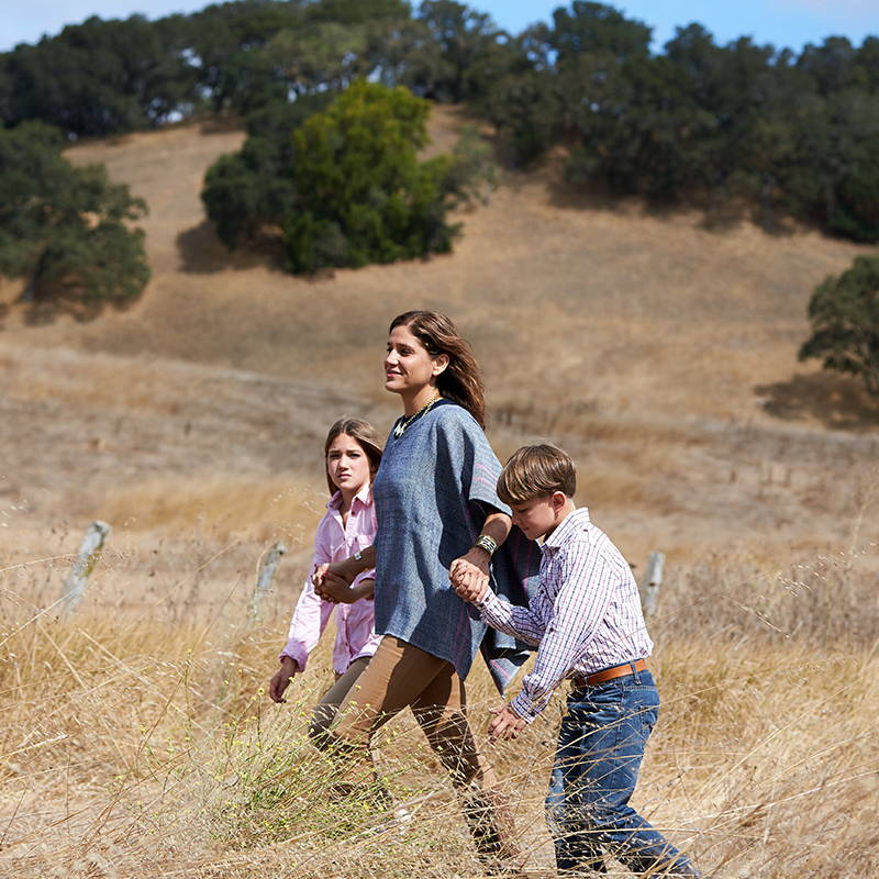
[{"label": "dark tree shadow on the dry slope at the right edge", "polygon": [[831,372],[797,375],[789,381],[758,385],[764,410],[782,421],[804,418],[842,431],[879,427],[879,399],[858,379]]}]

